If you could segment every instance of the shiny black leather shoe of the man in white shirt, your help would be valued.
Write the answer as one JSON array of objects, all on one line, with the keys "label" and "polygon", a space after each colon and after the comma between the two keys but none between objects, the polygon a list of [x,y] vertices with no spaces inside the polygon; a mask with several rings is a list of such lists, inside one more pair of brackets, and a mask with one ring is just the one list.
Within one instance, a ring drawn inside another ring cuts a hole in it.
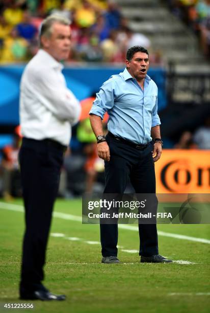
[{"label": "shiny black leather shoe of the man in white shirt", "polygon": [[20,293],[20,300],[62,301],[65,299],[66,299],[65,295],[54,295],[51,294],[49,291],[45,290],[35,290],[29,293]]}]

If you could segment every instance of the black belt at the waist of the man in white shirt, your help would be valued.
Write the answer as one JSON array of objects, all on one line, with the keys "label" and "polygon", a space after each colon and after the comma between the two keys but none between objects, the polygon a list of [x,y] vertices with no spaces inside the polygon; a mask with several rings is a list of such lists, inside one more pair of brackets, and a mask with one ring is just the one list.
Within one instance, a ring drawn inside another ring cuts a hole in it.
[{"label": "black belt at the waist of the man in white shirt", "polygon": [[23,137],[22,139],[22,146],[25,147],[37,147],[37,148],[44,148],[44,147],[52,147],[56,148],[60,151],[65,152],[67,147],[60,144],[58,141],[52,140],[52,139],[42,139],[42,140],[36,140],[31,138]]}]

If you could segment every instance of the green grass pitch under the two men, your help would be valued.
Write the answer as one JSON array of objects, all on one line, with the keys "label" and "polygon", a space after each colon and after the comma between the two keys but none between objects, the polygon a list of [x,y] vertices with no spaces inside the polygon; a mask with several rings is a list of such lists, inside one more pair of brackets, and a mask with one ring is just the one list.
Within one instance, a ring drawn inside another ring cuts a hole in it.
[{"label": "green grass pitch under the two men", "polygon": [[[22,205],[22,200],[15,200],[12,204]],[[81,217],[82,201],[59,199],[54,211]],[[5,303],[20,302],[18,281],[24,230],[23,213],[0,208],[0,220],[2,308]],[[158,225],[158,230],[205,239],[210,237],[208,225]],[[137,252],[123,251],[139,249],[138,232],[119,229],[118,244],[123,247],[119,248],[118,252],[121,264],[101,264],[98,225],[82,225],[80,221],[54,217],[51,233],[62,233],[65,236],[49,237],[44,284],[54,293],[66,294],[67,300],[22,301],[34,303],[33,311],[56,313],[209,311],[208,243],[161,235],[160,254],[191,263],[141,264]]]}]

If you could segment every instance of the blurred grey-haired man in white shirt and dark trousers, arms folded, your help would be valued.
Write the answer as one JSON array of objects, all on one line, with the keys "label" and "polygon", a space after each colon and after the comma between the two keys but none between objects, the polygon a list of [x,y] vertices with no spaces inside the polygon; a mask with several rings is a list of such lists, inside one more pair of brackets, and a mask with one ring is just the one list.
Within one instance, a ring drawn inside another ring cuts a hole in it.
[{"label": "blurred grey-haired man in white shirt and dark trousers, arms folded", "polygon": [[70,52],[68,19],[51,15],[40,30],[40,50],[26,66],[20,85],[23,136],[19,160],[25,208],[20,299],[65,300],[46,289],[43,266],[63,154],[80,103],[62,74]]}]

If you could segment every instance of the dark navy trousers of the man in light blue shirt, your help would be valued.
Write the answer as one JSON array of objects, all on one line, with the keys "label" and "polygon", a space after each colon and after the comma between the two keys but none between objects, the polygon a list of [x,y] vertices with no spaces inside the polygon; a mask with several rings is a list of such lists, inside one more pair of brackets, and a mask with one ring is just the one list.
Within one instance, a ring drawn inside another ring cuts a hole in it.
[{"label": "dark navy trousers of the man in light blue shirt", "polygon": [[[136,193],[155,193],[155,172],[152,143],[139,150],[107,135],[110,161],[105,162],[104,193],[122,194],[130,179]],[[139,224],[139,255],[158,254],[156,224]],[[100,224],[102,256],[117,256],[118,225]]]}]

